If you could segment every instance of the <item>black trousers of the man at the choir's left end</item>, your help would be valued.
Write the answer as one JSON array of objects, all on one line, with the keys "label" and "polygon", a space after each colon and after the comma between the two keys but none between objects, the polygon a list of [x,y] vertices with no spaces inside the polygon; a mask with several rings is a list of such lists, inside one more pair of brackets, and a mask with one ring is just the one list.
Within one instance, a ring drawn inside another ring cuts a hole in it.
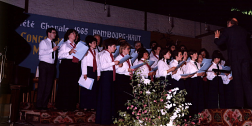
[{"label": "black trousers of the man at the choir's left end", "polygon": [[37,108],[47,108],[48,99],[52,92],[52,85],[55,74],[55,65],[39,62],[39,82],[37,95]]}]

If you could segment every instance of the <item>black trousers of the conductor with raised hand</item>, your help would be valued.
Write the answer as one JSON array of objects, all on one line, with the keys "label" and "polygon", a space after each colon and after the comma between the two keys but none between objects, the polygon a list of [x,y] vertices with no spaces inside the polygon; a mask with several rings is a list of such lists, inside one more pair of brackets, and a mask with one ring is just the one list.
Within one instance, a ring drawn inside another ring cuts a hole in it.
[{"label": "black trousers of the conductor with raised hand", "polygon": [[245,107],[252,108],[252,83],[249,63],[249,60],[231,62],[236,107],[244,107],[247,103]]}]

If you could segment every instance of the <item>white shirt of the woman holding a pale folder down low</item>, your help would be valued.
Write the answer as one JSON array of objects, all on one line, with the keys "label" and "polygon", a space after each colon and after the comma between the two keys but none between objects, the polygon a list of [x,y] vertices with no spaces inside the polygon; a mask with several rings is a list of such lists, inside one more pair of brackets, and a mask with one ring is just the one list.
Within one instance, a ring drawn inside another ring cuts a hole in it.
[{"label": "white shirt of the woman holding a pale folder down low", "polygon": [[[96,58],[96,64],[97,64],[97,76],[101,75],[101,67],[100,67],[100,61],[99,61],[99,56],[98,56],[98,51],[96,49],[92,50],[95,51],[95,58]],[[88,50],[87,55],[84,56],[84,58],[81,60],[81,70],[82,70],[82,75],[87,75],[87,67],[93,67],[93,55],[92,53]]]}]

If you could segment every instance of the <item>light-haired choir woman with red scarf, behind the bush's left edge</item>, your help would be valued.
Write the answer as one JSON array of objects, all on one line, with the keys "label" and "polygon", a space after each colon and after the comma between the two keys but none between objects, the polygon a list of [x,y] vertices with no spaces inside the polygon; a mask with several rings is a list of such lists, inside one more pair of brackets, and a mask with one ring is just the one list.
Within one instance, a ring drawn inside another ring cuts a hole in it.
[{"label": "light-haired choir woman with red scarf, behind the bush's left edge", "polygon": [[[119,55],[115,58],[116,61],[121,60],[124,56],[130,53],[130,44],[123,42],[119,48]],[[116,66],[116,85],[115,85],[115,105],[116,112],[119,110],[126,111],[127,107],[124,105],[128,100],[132,99],[131,76],[134,69],[131,69],[131,60],[128,59],[122,63],[122,66]]]}]

